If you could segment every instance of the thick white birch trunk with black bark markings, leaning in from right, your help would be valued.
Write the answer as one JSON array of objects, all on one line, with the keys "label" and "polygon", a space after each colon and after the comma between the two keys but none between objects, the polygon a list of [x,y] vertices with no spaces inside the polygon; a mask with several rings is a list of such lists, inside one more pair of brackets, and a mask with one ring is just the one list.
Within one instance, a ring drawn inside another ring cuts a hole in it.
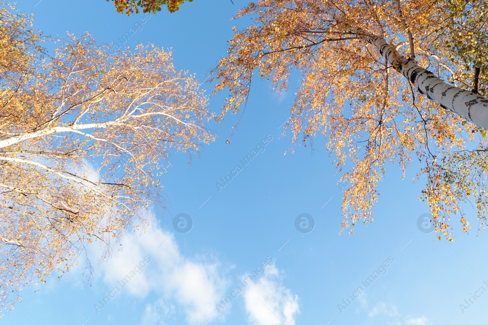
[{"label": "thick white birch trunk with black bark markings, leaning in from right", "polygon": [[[362,34],[364,31],[360,30],[359,33]],[[487,98],[444,82],[430,71],[420,67],[415,60],[401,56],[386,42],[385,38],[365,34],[360,36],[376,46],[381,55],[386,57],[399,73],[410,80],[420,93],[469,122],[488,129]]]}]

